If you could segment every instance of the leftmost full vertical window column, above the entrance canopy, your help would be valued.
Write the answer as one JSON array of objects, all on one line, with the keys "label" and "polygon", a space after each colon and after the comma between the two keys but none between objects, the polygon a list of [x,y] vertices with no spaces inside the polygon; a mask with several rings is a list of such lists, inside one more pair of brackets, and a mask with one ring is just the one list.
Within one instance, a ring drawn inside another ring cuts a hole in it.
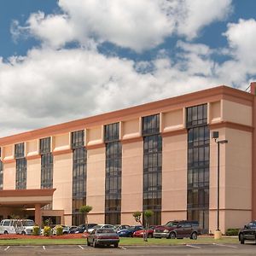
[{"label": "leftmost full vertical window column, above the entrance canopy", "polygon": [[26,158],[24,143],[15,144],[16,184],[15,189],[26,189]]}]

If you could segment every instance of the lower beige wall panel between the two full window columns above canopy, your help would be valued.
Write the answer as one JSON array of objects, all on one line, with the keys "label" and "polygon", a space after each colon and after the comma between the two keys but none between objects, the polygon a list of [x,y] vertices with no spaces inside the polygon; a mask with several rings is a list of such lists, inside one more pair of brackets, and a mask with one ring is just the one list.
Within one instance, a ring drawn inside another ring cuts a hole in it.
[{"label": "lower beige wall panel between the two full window columns above canopy", "polygon": [[26,161],[26,189],[41,188],[41,158]]}]

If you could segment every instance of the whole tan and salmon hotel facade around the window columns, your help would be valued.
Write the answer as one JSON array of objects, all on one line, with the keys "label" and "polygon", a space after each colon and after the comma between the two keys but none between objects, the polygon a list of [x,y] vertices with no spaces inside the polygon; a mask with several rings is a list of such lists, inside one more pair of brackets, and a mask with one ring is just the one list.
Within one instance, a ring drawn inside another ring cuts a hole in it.
[{"label": "whole tan and salmon hotel facade around the window columns", "polygon": [[[254,84],[255,85],[255,84]],[[72,224],[73,151],[71,133],[84,131],[87,149],[86,204],[93,207],[90,223],[105,220],[106,147],[104,125],[119,122],[122,145],[121,223],[136,224],[132,212],[143,211],[143,117],[160,114],[162,137],[161,222],[187,218],[188,131],[186,108],[207,104],[207,125],[218,131],[220,144],[220,230],[241,227],[256,218],[255,96],[219,86],[185,96],[152,102],[88,119],[53,125],[0,138],[3,190],[15,190],[15,144],[25,143],[26,189],[40,189],[39,139],[51,137],[54,157],[52,210],[43,216],[59,216]],[[217,223],[217,143],[210,138],[209,232]],[[14,199],[12,199],[14,200]],[[9,208],[5,208],[5,215]],[[1,214],[0,214],[1,215]]]}]

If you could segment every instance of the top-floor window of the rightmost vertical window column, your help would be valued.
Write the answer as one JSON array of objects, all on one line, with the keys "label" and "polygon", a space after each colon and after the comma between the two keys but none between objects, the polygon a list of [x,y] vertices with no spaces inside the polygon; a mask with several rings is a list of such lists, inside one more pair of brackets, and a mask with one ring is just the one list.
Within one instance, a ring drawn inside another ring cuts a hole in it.
[{"label": "top-floor window of the rightmost vertical window column", "polygon": [[187,108],[187,127],[207,125],[207,104]]}]

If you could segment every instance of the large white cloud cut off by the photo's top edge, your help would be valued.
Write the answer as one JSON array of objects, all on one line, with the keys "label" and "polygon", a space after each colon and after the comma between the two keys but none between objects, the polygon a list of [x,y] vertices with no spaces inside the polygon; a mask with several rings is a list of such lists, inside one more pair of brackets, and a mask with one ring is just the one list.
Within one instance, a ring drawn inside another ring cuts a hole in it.
[{"label": "large white cloud cut off by the photo's top edge", "polygon": [[32,14],[25,27],[53,47],[77,41],[110,42],[137,52],[152,49],[174,33],[191,39],[201,28],[230,13],[231,0],[60,0],[64,15]]}]

